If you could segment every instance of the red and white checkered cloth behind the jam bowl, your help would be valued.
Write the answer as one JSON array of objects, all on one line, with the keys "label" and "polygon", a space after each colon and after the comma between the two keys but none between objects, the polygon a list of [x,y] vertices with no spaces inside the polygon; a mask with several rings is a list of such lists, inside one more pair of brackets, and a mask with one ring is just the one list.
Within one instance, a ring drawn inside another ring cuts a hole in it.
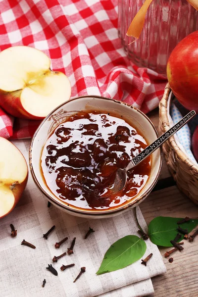
[{"label": "red and white checkered cloth behind the jam bowl", "polygon": [[[116,0],[1,0],[0,51],[25,45],[43,50],[64,72],[72,98],[101,95],[145,113],[161,99],[166,80],[126,57],[118,38]],[[30,138],[39,121],[14,119],[0,108],[0,136]]]}]

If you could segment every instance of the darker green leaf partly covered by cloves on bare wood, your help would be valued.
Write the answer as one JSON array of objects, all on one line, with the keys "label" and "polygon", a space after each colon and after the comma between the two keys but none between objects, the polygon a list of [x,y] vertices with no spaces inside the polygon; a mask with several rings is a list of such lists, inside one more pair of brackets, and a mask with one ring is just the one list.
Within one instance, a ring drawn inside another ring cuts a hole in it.
[{"label": "darker green leaf partly covered by cloves on bare wood", "polygon": [[[156,217],[148,225],[148,235],[153,244],[161,247],[172,247],[170,243],[171,240],[174,240],[176,237],[178,228],[177,222],[181,218],[172,218],[172,217]],[[190,233],[198,225],[198,220],[191,219],[188,222],[185,222],[180,225],[183,229],[188,229]],[[179,241],[184,238],[184,235]]]}]

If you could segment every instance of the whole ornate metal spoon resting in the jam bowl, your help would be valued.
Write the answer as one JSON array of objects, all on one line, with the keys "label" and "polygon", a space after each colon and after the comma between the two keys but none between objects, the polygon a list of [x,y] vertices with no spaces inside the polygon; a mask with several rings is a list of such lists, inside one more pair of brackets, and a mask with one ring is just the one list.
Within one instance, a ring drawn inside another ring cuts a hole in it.
[{"label": "whole ornate metal spoon resting in the jam bowl", "polygon": [[[159,148],[169,137],[175,134],[178,130],[180,130],[190,119],[192,119],[196,115],[195,110],[189,112],[185,117],[183,117],[177,124],[175,124],[172,128],[162,134],[159,138],[157,138],[151,145],[145,148],[141,153],[139,153],[135,158],[133,158],[126,168],[119,168],[116,172],[114,184],[110,187],[111,195],[115,195],[120,192],[126,185],[127,182],[127,171],[131,168],[138,165],[144,159],[146,159],[153,151]],[[103,196],[103,195],[101,195]]]}]

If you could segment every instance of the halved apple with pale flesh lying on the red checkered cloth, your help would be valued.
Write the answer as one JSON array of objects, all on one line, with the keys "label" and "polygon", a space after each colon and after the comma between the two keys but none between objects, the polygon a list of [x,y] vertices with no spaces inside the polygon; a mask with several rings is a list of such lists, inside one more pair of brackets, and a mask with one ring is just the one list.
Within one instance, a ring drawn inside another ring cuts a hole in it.
[{"label": "halved apple with pale flesh lying on the red checkered cloth", "polygon": [[0,52],[0,106],[13,116],[39,120],[70,99],[70,81],[50,70],[42,51],[17,46]]}]

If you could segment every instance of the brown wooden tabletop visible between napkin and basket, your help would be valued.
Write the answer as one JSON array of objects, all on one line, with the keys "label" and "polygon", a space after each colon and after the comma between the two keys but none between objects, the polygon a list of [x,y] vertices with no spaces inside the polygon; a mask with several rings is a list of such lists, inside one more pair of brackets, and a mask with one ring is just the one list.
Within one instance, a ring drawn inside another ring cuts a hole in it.
[{"label": "brown wooden tabletop visible between napkin and basket", "polygon": [[[148,116],[158,128],[158,110]],[[178,190],[165,160],[157,185],[140,208],[147,224],[157,216],[198,217],[198,206]],[[152,278],[154,297],[198,297],[198,239],[194,243],[185,241],[184,250],[172,254],[173,263],[164,257],[170,249],[159,248],[167,273]]]}]

